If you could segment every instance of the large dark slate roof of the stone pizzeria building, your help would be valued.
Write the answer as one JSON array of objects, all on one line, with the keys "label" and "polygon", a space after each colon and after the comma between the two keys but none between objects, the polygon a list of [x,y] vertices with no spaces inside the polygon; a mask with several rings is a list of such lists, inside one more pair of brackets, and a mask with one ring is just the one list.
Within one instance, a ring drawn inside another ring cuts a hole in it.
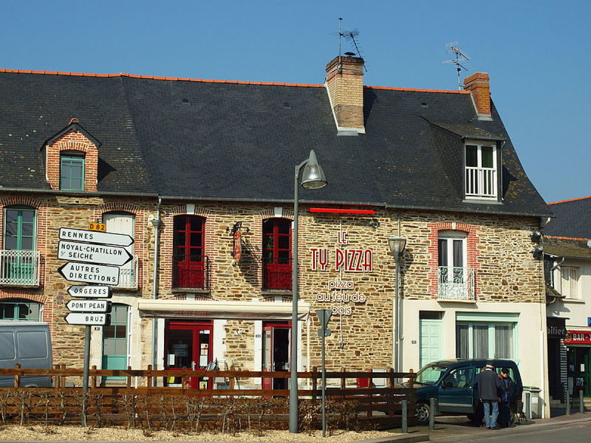
[{"label": "large dark slate roof of the stone pizzeria building", "polygon": [[[337,136],[324,87],[0,72],[0,186],[47,190],[44,142],[72,118],[99,148],[101,192],[293,200],[294,166],[316,150],[329,186],[303,200],[551,214],[496,109],[467,93],[365,87],[365,128]],[[506,140],[502,203],[462,201],[463,135]]]}]

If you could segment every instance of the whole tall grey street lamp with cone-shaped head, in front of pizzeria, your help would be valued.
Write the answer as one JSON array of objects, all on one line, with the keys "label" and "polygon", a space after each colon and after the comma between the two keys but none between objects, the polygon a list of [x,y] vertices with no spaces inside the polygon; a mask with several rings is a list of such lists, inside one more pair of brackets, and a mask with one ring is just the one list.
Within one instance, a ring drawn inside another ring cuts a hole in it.
[{"label": "whole tall grey street lamp with cone-shaped head, in front of pizzeria", "polygon": [[[304,168],[301,174],[300,171]],[[297,299],[298,299],[298,211],[299,209],[299,185],[307,189],[319,189],[327,185],[324,172],[316,159],[314,149],[310,150],[309,157],[295,168],[294,173],[294,227],[293,227],[293,258],[291,268],[291,373],[290,373],[290,432],[298,432],[298,398],[297,398]]]}]

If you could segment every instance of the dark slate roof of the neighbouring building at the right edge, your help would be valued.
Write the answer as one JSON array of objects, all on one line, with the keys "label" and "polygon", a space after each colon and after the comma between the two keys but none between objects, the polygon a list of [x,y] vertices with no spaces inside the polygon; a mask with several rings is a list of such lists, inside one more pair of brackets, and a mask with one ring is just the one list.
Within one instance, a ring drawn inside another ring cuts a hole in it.
[{"label": "dark slate roof of the neighbouring building at the right edge", "polygon": [[549,203],[556,214],[544,234],[591,239],[591,196]]}]

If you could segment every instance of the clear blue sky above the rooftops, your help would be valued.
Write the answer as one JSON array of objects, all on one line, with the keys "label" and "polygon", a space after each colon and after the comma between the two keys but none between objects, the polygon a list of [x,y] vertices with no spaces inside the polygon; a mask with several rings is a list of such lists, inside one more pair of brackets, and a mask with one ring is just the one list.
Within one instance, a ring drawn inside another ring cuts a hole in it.
[{"label": "clear blue sky above the rooftops", "polygon": [[441,62],[458,41],[468,74],[491,75],[544,199],[591,195],[591,0],[5,0],[0,13],[5,69],[319,84],[343,17],[360,32],[365,84],[456,89]]}]

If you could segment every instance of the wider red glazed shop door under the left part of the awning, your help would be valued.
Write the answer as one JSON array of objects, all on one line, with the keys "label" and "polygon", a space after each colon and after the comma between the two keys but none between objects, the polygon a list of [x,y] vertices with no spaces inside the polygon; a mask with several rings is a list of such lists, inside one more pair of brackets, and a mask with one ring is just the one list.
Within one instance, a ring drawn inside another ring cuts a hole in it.
[{"label": "wider red glazed shop door under the left part of the awning", "polygon": [[[166,369],[205,369],[213,359],[213,321],[174,321],[165,333]],[[168,377],[167,386],[181,386],[181,377]],[[189,377],[191,389],[212,389],[212,377]]]}]

